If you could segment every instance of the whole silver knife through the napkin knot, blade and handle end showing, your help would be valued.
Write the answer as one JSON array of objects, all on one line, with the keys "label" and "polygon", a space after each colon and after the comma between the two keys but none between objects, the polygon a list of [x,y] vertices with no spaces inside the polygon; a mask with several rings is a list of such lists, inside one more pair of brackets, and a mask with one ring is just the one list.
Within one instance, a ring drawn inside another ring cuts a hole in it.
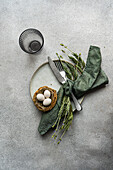
[{"label": "whole silver knife through the napkin knot, blade and handle end showing", "polygon": [[[55,77],[57,78],[57,80],[61,83],[64,84],[66,82],[66,80],[64,79],[64,77],[61,75],[61,73],[59,72],[59,70],[57,69],[57,67],[55,66],[53,60],[48,57],[48,62],[49,62],[49,66],[51,68],[51,70],[53,71]],[[78,102],[78,100],[76,99],[76,97],[74,96],[74,94],[71,92],[71,96],[73,99],[73,102],[75,104],[75,107],[78,111],[82,110],[82,106],[80,105],[80,103]]]}]

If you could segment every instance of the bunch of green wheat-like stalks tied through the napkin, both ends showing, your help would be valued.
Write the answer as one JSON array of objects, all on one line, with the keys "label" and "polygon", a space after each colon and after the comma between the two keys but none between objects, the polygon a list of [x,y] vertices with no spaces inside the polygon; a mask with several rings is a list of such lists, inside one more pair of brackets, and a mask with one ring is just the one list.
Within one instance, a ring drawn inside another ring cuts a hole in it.
[{"label": "bunch of green wheat-like stalks tied through the napkin, both ends showing", "polygon": [[[68,56],[68,58],[73,62],[74,65],[72,65],[68,62],[64,63],[61,60],[63,57],[61,55],[58,55],[58,53],[56,53],[56,55],[62,64],[62,67],[66,73],[67,78],[74,81],[77,79],[78,75],[83,72],[83,69],[85,67],[85,62],[82,60],[81,54],[78,55],[77,53],[71,51],[64,44],[60,44],[60,45],[71,52],[71,56],[70,56],[66,53],[65,50],[61,50],[62,53],[66,54]],[[57,144],[60,143],[60,141],[62,140],[62,137],[64,136],[66,131],[69,129],[70,125],[72,124],[72,120],[73,120],[73,111],[72,111],[70,97],[64,95],[56,122],[52,126],[52,127],[56,126],[55,132],[52,136],[54,139],[56,139],[58,134],[61,132],[61,135],[60,135],[60,138],[59,138]],[[62,123],[62,125],[60,125],[61,123]]]}]

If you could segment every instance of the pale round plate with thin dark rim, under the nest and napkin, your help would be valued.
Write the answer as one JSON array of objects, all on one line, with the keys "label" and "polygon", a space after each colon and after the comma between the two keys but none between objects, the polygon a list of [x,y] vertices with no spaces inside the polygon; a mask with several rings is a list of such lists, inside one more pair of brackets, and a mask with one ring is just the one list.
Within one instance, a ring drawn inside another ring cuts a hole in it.
[{"label": "pale round plate with thin dark rim, under the nest and napkin", "polygon": [[[54,61],[58,61],[58,60],[54,60]],[[39,66],[31,78],[30,95],[32,99],[34,93],[42,86],[48,86],[52,89],[55,89],[56,91],[58,91],[59,88],[61,87],[61,84],[58,82],[57,78],[53,74],[48,62]],[[82,103],[82,101],[83,99],[80,100],[80,103]],[[72,102],[72,107],[73,109],[75,108],[73,102]]]}]

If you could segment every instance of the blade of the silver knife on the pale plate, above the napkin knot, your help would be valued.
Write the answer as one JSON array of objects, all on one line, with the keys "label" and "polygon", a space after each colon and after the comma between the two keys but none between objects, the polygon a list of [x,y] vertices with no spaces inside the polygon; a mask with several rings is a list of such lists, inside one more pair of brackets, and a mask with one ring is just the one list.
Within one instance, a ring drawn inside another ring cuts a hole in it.
[{"label": "blade of the silver knife on the pale plate, above the napkin knot", "polygon": [[50,66],[51,70],[53,71],[53,73],[54,73],[55,77],[57,78],[57,80],[61,84],[65,83],[65,79],[61,76],[59,70],[57,69],[57,67],[55,66],[53,60],[50,57],[48,57],[48,62],[49,62],[49,66]]}]

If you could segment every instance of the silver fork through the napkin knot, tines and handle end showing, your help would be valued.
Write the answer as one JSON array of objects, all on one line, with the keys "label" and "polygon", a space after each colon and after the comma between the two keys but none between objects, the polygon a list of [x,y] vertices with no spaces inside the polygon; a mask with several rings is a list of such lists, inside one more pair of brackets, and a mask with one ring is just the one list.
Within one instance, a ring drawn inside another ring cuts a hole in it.
[{"label": "silver fork through the napkin knot, tines and handle end showing", "polygon": [[[55,63],[55,66],[58,68],[58,70],[60,71],[60,74],[61,76],[65,79],[64,83],[66,82],[67,80],[67,77],[66,77],[66,73],[62,67],[62,64],[60,61],[54,61]],[[73,102],[74,102],[74,105],[77,109],[77,111],[81,111],[82,110],[82,106],[80,105],[80,103],[78,102],[78,100],[76,99],[76,97],[74,96],[73,92],[71,92],[71,96],[72,96],[72,99],[73,99]]]}]

